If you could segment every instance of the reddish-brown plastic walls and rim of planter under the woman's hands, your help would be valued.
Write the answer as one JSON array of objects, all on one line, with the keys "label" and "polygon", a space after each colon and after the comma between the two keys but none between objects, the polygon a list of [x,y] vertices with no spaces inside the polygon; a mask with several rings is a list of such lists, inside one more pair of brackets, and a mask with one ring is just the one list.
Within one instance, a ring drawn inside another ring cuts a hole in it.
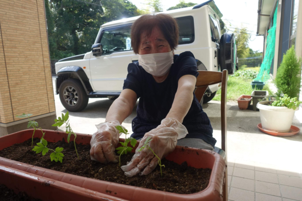
[{"label": "reddish-brown plastic walls and rim of planter under the woman's hands", "polygon": [[[67,134],[59,131],[46,131],[45,139],[49,142],[56,142],[67,138]],[[11,135],[7,135],[0,138],[0,150],[10,147],[16,143],[22,143],[31,138],[33,130],[20,131]],[[42,133],[36,131],[35,137],[41,137]],[[71,141],[73,136],[71,136]],[[90,144],[91,135],[77,134],[76,143]],[[123,141],[123,139],[120,139]],[[137,144],[138,145],[138,144]],[[135,149],[133,149],[134,152]],[[201,192],[193,194],[177,194],[171,192],[164,192],[153,189],[146,189],[141,187],[134,187],[130,185],[118,184],[108,181],[102,181],[63,172],[58,172],[50,169],[45,169],[26,163],[21,163],[0,157],[0,164],[10,166],[19,170],[34,173],[36,175],[43,175],[44,177],[51,178],[57,181],[69,183],[75,186],[84,187],[90,190],[98,191],[101,193],[107,193],[115,197],[128,200],[222,200],[222,186],[224,180],[225,161],[217,153],[202,150],[185,148],[176,146],[176,149],[169,154],[166,159],[173,160],[174,162],[181,164],[187,161],[189,166],[195,168],[211,168],[211,176],[209,184]]]}]

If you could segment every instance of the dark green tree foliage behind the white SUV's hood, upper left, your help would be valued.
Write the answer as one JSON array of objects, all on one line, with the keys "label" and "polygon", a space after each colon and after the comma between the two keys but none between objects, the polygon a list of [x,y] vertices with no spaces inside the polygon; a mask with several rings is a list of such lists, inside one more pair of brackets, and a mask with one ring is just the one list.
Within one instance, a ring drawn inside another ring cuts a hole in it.
[{"label": "dark green tree foliage behind the white SUV's hood, upper left", "polygon": [[51,59],[91,50],[104,23],[140,15],[128,0],[44,0]]}]

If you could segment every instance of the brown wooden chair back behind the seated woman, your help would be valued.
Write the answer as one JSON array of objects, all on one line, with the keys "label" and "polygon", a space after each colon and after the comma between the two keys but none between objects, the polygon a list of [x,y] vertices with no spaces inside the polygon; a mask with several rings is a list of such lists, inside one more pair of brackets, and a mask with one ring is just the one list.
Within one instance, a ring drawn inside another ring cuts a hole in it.
[{"label": "brown wooden chair back behind the seated woman", "polygon": [[226,159],[226,83],[228,80],[228,70],[223,70],[222,72],[198,70],[198,72],[197,88],[195,90],[198,102],[202,99],[209,85],[221,82],[221,149],[225,152]]}]

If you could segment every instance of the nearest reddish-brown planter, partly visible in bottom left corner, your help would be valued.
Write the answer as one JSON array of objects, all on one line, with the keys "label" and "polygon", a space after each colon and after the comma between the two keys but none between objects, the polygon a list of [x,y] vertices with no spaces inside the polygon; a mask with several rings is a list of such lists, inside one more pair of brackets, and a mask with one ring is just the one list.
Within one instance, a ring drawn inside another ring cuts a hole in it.
[{"label": "nearest reddish-brown planter, partly visible in bottom left corner", "polygon": [[0,184],[42,200],[121,200],[119,198],[0,165]]}]

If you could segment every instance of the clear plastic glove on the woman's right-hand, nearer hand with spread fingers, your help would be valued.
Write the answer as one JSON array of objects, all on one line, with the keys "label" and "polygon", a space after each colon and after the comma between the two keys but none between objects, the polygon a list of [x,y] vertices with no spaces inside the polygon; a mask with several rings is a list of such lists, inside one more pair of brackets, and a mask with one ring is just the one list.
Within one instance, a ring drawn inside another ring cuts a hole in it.
[{"label": "clear plastic glove on the woman's right-hand, nearer hand with spread fingers", "polygon": [[[141,175],[149,174],[158,164],[158,158],[154,153],[160,159],[166,157],[175,149],[177,140],[184,138],[187,134],[186,127],[176,119],[163,119],[161,125],[143,136],[131,161],[121,167],[125,171],[125,175],[131,177],[139,172],[141,172]],[[149,147],[154,153],[146,147],[138,152],[148,137],[150,137],[150,140],[152,139],[149,142]]]}]

